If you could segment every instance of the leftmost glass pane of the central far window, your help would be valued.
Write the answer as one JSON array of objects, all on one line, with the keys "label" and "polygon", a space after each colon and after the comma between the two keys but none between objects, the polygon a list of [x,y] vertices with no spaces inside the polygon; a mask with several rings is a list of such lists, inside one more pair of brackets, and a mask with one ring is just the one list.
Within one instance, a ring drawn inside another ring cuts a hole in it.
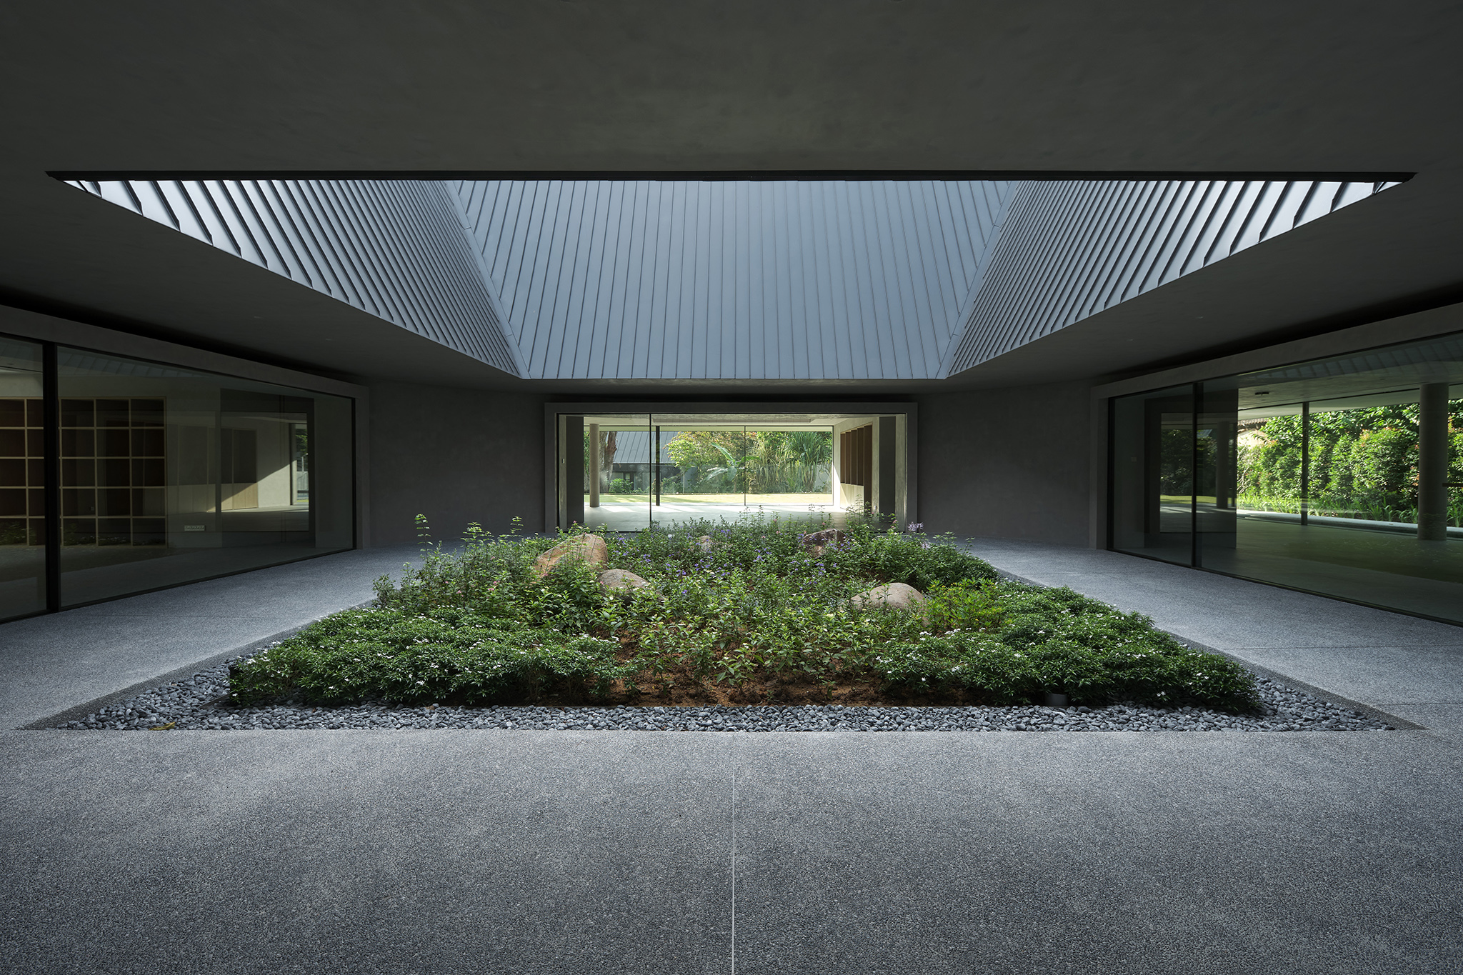
[{"label": "leftmost glass pane of the central far window", "polygon": [[650,526],[652,437],[645,414],[584,417],[584,523],[595,531]]}]

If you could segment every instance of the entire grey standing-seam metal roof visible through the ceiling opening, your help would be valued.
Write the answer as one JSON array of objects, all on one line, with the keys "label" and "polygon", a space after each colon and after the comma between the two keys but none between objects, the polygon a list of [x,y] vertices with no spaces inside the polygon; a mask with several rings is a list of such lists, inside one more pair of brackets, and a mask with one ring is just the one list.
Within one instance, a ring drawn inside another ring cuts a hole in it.
[{"label": "entire grey standing-seam metal roof visible through the ceiling opening", "polygon": [[70,181],[525,379],[942,379],[1391,183]]}]

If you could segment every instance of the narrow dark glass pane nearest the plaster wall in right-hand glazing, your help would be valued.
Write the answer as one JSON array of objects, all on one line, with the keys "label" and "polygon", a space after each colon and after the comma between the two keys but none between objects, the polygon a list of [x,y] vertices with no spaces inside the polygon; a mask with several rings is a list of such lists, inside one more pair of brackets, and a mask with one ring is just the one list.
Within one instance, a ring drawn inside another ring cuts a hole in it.
[{"label": "narrow dark glass pane nearest the plaster wall in right-hand glazing", "polygon": [[[1194,387],[1175,386],[1116,399],[1112,424],[1112,547],[1191,564]],[[1210,450],[1206,456],[1213,485],[1217,455]]]}]

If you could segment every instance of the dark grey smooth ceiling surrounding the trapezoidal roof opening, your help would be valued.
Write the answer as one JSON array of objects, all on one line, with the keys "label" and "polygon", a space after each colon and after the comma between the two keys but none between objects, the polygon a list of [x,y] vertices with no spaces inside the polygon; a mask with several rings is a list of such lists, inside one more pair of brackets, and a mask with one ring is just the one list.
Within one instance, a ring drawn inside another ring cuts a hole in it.
[{"label": "dark grey smooth ceiling surrounding the trapezoidal roof opening", "polygon": [[1460,26],[1425,3],[9,4],[0,288],[300,367],[527,386],[45,174],[1418,174],[941,387],[1127,374],[1463,297]]}]

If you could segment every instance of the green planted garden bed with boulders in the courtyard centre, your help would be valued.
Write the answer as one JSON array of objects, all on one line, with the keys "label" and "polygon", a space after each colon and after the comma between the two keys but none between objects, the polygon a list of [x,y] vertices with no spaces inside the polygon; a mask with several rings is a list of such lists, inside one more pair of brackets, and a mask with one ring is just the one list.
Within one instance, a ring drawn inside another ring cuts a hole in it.
[{"label": "green planted garden bed with boulders in the courtyard centre", "polygon": [[[806,531],[473,531],[461,550],[379,580],[377,607],[236,662],[230,702],[1009,706],[1062,693],[1072,706],[1258,705],[1233,661],[1069,589],[1002,580],[949,539]],[[917,591],[909,608],[876,598],[891,585]]]}]

